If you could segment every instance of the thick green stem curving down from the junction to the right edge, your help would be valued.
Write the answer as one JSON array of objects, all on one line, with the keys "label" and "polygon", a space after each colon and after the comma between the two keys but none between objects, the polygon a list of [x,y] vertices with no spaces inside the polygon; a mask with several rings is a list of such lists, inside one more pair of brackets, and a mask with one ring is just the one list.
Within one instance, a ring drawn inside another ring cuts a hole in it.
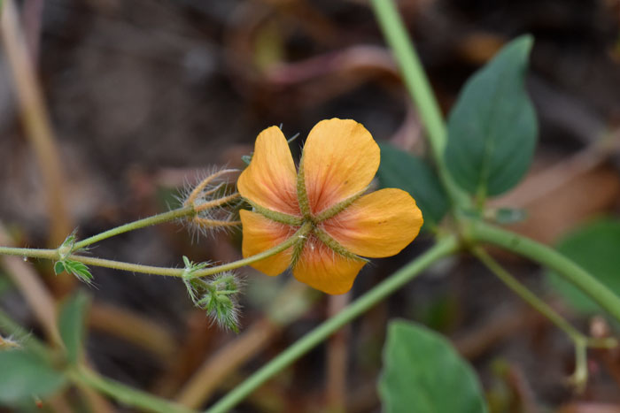
[{"label": "thick green stem curving down from the junction to the right edge", "polygon": [[620,298],[598,279],[595,279],[590,273],[556,250],[482,221],[474,223],[469,231],[472,241],[484,241],[499,245],[554,270],[620,321]]}]

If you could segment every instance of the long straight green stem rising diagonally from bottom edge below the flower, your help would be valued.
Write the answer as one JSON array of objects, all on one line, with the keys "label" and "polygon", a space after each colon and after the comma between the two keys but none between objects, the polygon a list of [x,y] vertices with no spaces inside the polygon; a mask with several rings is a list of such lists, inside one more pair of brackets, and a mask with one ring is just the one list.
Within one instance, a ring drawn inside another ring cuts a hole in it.
[{"label": "long straight green stem rising diagonally from bottom edge below the flower", "polygon": [[259,371],[252,374],[252,376],[246,379],[241,385],[236,386],[229,394],[226,394],[226,396],[213,405],[211,409],[207,409],[206,411],[209,413],[229,411],[236,406],[238,402],[244,400],[246,396],[252,394],[252,392],[267,379],[273,377],[299,357],[305,355],[310,349],[327,339],[340,327],[351,322],[354,318],[359,317],[365,311],[375,306],[377,302],[381,302],[385,297],[397,291],[400,287],[427,269],[430,264],[435,263],[444,256],[452,254],[458,247],[459,242],[453,236],[448,236],[438,241],[433,248],[416,258],[411,264],[407,264],[398,272],[392,274],[389,278],[368,291],[368,293],[363,294],[360,298],[352,302],[345,310],[327,319],[322,325],[314,328],[313,331],[307,333],[304,337],[291,345],[291,347],[285,349]]}]

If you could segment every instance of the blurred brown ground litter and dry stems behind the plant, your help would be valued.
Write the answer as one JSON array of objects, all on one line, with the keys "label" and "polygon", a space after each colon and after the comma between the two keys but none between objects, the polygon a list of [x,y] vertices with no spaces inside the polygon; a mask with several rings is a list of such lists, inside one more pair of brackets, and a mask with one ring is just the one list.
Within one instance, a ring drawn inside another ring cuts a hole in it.
[{"label": "blurred brown ground litter and dry stems behind the plant", "polygon": [[[201,171],[243,167],[241,157],[267,126],[282,124],[288,137],[299,133],[295,152],[319,120],[350,118],[377,141],[424,153],[415,108],[364,0],[4,3],[15,13],[4,13],[0,54],[2,245],[55,247],[75,227],[83,239],[167,210],[177,189]],[[527,179],[494,201],[528,210],[516,231],[554,244],[592,218],[617,216],[618,0],[409,0],[399,9],[446,113],[464,81],[504,42],[534,35],[527,86],[539,147]],[[21,40],[13,36],[18,31]],[[240,233],[197,239],[171,224],[91,252],[178,266],[183,255],[234,260],[239,245]],[[50,276],[49,263],[35,260],[4,259],[0,307],[44,336],[45,303],[87,289],[90,363],[198,408],[428,245],[421,236],[399,256],[373,260],[350,295],[331,299],[287,284],[289,276],[243,269],[240,335],[211,325],[178,280],[93,268],[95,287],[88,288],[66,274]],[[556,299],[538,267],[500,259],[582,331],[615,328]],[[32,285],[18,279],[43,286],[49,300],[28,295]],[[282,301],[301,304],[283,315],[270,305]],[[565,381],[574,363],[570,341],[464,258],[442,263],[369,311],[238,411],[379,411],[376,378],[391,317],[451,338],[477,368],[493,411],[577,412],[620,403],[616,353],[593,355],[589,386],[575,394]]]}]

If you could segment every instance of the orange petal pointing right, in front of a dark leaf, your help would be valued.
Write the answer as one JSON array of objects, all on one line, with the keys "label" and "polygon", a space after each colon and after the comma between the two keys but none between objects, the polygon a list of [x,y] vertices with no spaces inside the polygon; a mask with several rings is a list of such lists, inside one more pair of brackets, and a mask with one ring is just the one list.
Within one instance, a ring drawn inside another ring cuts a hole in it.
[{"label": "orange petal pointing right, in front of a dark leaf", "polygon": [[398,254],[420,232],[422,211],[407,192],[381,189],[362,196],[337,216],[322,222],[322,229],[358,256]]}]

